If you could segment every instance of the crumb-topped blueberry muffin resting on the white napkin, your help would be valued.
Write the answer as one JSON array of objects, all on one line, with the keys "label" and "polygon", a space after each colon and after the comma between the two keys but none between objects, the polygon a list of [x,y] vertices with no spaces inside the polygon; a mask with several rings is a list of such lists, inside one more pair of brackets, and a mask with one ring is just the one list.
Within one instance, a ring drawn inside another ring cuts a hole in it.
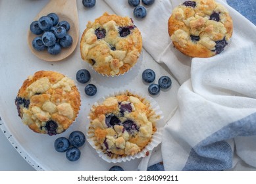
[{"label": "crumb-topped blueberry muffin resting on the white napkin", "polygon": [[218,55],[228,45],[232,32],[227,9],[214,0],[185,1],[168,19],[174,47],[189,57]]}]

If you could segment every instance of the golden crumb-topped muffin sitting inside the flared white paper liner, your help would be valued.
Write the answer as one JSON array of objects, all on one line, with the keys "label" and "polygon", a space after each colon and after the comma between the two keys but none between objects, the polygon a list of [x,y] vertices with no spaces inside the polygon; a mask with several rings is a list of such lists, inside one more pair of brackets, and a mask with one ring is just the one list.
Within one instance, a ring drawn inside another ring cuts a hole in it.
[{"label": "golden crumb-topped muffin sitting inside the flared white paper liner", "polygon": [[157,119],[149,101],[126,91],[92,106],[88,136],[108,158],[134,156],[151,142]]}]

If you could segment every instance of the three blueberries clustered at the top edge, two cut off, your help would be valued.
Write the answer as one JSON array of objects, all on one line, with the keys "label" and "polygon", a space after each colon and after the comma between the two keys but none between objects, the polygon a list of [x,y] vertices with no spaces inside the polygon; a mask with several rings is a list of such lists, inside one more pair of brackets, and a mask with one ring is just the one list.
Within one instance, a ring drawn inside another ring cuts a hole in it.
[{"label": "three blueberries clustered at the top edge, two cut off", "polygon": [[[152,5],[155,0],[141,0],[143,5],[150,6]],[[134,8],[134,16],[136,18],[144,18],[147,16],[147,9],[140,5],[140,0],[128,0],[130,6]]]}]

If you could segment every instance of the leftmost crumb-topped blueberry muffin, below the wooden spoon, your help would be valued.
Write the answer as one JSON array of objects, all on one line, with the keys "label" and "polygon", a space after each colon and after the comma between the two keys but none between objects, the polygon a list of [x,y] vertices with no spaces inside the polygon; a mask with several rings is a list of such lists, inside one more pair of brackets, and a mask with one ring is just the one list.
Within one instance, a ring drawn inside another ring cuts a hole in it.
[{"label": "leftmost crumb-topped blueberry muffin, below the wooden spoon", "polygon": [[80,110],[73,80],[52,71],[38,71],[24,81],[15,99],[18,116],[37,133],[63,133]]}]

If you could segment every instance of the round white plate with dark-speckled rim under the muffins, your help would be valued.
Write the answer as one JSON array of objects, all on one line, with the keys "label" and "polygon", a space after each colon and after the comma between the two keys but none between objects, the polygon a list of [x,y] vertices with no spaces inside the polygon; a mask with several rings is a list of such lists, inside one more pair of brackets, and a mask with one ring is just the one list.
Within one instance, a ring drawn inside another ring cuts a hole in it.
[{"label": "round white plate with dark-speckled rim under the muffins", "polygon": [[[32,0],[1,1],[0,127],[15,149],[36,170],[109,170],[113,164],[99,158],[97,152],[88,142],[80,148],[80,159],[76,162],[70,162],[66,159],[64,153],[55,151],[53,147],[55,139],[60,136],[68,137],[72,131],[78,129],[86,133],[89,122],[87,116],[91,105],[109,93],[132,89],[138,91],[138,93],[148,94],[148,84],[141,80],[141,74],[146,68],[152,68],[155,71],[156,82],[160,76],[170,76],[170,74],[165,68],[157,64],[145,50],[143,50],[140,62],[128,74],[118,78],[107,78],[91,70],[91,67],[80,58],[79,47],[76,47],[70,57],[59,62],[45,62],[36,58],[26,43],[26,34],[30,22],[47,2]],[[31,6],[31,3],[34,3],[34,5]],[[103,1],[97,3],[98,5],[91,10],[84,9],[82,3],[78,3],[80,35],[86,28],[88,20],[94,20],[104,11],[112,12]],[[14,7],[18,7],[18,9],[15,9],[12,14],[9,13]],[[67,131],[56,136],[40,135],[22,124],[18,117],[14,99],[18,89],[29,75],[38,70],[55,70],[76,81],[76,72],[81,68],[87,68],[91,72],[90,83],[95,84],[98,91],[94,97],[88,97],[84,93],[85,85],[77,84],[81,93],[82,106],[76,122]],[[165,121],[170,118],[172,111],[176,108],[178,87],[178,83],[172,78],[171,89],[161,91],[160,95],[153,97],[163,111]],[[140,159],[135,159],[117,165],[122,166],[124,170],[137,170],[139,164]]]}]

